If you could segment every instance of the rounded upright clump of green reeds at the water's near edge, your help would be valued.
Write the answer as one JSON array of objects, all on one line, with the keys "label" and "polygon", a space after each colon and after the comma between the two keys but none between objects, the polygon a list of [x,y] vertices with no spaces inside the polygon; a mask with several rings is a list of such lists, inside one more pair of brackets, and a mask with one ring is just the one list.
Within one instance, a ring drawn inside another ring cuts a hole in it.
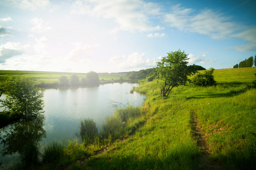
[{"label": "rounded upright clump of green reeds at the water's near edge", "polygon": [[96,122],[88,118],[80,121],[80,137],[82,141],[90,143],[94,137],[98,134]]}]

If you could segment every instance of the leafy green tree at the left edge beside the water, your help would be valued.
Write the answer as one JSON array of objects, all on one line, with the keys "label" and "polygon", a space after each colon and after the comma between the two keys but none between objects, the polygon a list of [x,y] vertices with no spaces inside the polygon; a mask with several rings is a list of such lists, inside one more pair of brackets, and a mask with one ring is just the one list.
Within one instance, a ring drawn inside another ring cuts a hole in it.
[{"label": "leafy green tree at the left edge beside the water", "polygon": [[25,76],[9,78],[2,84],[6,99],[0,100],[2,107],[9,109],[12,116],[28,118],[42,113],[44,91],[34,87]]}]

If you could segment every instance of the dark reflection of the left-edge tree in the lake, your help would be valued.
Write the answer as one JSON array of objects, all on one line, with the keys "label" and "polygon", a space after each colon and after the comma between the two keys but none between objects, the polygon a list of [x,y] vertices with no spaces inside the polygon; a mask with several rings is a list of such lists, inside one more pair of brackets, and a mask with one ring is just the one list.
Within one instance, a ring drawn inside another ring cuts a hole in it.
[{"label": "dark reflection of the left-edge tree in the lake", "polygon": [[27,121],[14,123],[4,131],[1,130],[2,155],[18,153],[23,164],[36,163],[39,156],[39,143],[46,138],[46,130],[43,128],[44,120],[43,114],[38,114]]}]

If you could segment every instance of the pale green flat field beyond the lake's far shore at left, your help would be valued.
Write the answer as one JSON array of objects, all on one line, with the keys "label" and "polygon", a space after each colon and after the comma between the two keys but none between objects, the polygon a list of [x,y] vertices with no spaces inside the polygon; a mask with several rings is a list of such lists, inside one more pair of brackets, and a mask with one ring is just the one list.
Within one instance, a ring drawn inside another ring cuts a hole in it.
[{"label": "pale green flat field beyond the lake's far shore at left", "polygon": [[[28,76],[32,79],[35,84],[40,83],[57,83],[59,77],[65,75],[70,77],[72,74],[76,74],[79,78],[86,76],[86,73],[63,73],[63,72],[51,72],[51,71],[18,71],[18,70],[0,70],[0,82],[4,82],[10,77],[17,76]],[[122,76],[123,79],[126,79],[126,73],[99,73],[98,74],[100,82],[115,82],[120,79]]]}]

